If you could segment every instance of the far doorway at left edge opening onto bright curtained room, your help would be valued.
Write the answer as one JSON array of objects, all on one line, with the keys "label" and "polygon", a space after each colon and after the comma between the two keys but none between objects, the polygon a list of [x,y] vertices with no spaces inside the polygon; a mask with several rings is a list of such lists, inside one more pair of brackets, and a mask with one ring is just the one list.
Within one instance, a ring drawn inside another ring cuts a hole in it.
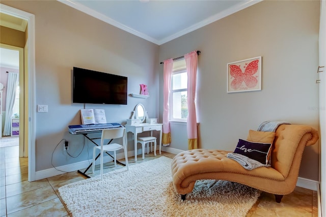
[{"label": "far doorway at left edge opening onto bright curtained room", "polygon": [[[19,157],[28,157],[24,144],[24,71],[23,49],[0,44],[0,83],[2,88],[1,145],[19,146]],[[14,78],[14,79],[13,79]],[[13,83],[11,83],[13,82]],[[20,120],[21,119],[21,120]]]}]

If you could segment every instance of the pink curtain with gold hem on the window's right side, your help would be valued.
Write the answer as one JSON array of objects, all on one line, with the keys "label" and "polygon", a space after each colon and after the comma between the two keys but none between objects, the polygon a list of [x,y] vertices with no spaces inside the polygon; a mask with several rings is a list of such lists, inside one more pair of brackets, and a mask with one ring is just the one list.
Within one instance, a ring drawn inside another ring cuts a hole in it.
[{"label": "pink curtain with gold hem on the window's right side", "polygon": [[187,134],[188,149],[198,149],[197,116],[196,116],[196,84],[197,84],[197,51],[184,55],[188,75],[188,117]]}]

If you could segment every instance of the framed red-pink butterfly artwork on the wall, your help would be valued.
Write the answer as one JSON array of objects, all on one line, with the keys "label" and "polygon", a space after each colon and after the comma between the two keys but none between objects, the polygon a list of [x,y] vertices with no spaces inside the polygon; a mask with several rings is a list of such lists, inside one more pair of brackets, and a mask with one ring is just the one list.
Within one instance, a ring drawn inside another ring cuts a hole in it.
[{"label": "framed red-pink butterfly artwork on the wall", "polygon": [[227,92],[261,90],[261,57],[228,63]]}]

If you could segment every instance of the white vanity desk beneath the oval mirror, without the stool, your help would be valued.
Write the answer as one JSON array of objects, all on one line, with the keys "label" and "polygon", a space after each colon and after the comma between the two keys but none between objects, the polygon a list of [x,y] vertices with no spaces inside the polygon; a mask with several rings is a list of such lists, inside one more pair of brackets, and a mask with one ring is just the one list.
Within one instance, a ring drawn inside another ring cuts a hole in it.
[{"label": "white vanity desk beneath the oval mirror, without the stool", "polygon": [[[138,125],[125,125],[126,133],[131,132],[134,135],[134,161],[137,161],[137,134],[145,131],[150,131],[153,136],[153,130],[159,131],[159,154],[161,154],[161,143],[162,143],[162,125],[163,124],[149,124],[143,123]],[[156,152],[156,150],[154,150]]]}]

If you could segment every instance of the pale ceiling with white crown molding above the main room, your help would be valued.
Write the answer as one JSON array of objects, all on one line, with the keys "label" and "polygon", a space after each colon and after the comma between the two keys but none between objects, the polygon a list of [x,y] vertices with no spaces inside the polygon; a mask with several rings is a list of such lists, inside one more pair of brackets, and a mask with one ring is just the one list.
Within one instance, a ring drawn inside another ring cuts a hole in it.
[{"label": "pale ceiling with white crown molding above the main room", "polygon": [[58,1],[160,45],[262,0]]}]

